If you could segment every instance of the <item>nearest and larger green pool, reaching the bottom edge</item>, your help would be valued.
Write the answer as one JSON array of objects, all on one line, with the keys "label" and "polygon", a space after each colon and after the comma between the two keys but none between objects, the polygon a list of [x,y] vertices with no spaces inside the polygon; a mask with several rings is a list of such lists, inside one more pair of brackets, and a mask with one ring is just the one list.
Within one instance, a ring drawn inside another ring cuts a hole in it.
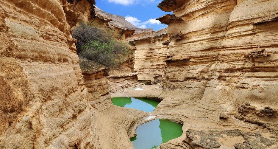
[{"label": "nearest and larger green pool, reaching the bottom edge", "polygon": [[161,143],[182,135],[182,124],[166,119],[154,119],[138,126],[137,136],[131,138],[135,149],[157,148]]}]

